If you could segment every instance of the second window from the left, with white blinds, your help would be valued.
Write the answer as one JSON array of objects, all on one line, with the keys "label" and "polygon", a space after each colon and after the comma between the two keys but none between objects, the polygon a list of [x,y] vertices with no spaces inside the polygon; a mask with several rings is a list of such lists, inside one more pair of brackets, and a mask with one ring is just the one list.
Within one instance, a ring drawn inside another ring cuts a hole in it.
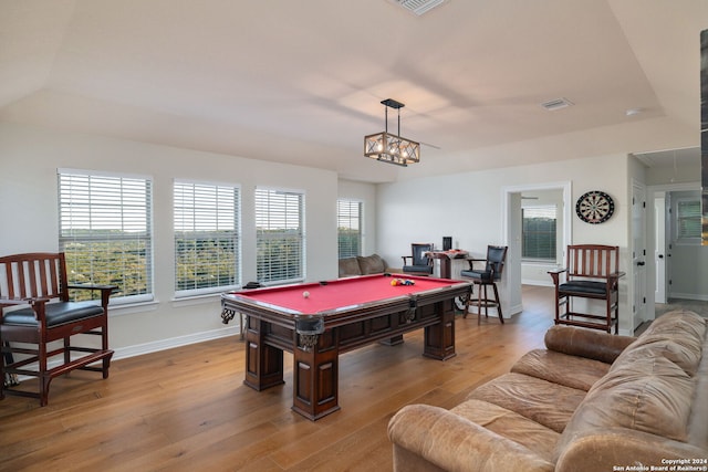
[{"label": "second window from the left, with white blinds", "polygon": [[239,188],[175,181],[175,295],[240,283]]}]

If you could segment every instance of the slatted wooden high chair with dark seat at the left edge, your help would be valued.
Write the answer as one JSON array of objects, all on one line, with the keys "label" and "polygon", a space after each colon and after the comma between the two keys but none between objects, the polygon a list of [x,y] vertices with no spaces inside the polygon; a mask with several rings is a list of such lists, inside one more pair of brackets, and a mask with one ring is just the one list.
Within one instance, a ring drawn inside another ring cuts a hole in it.
[{"label": "slatted wooden high chair with dark seat at the left edge", "polygon": [[[100,291],[100,304],[71,302],[70,289]],[[6,394],[33,397],[45,406],[50,382],[58,376],[83,369],[101,371],[107,378],[113,356],[108,349],[108,297],[113,290],[115,286],[70,285],[64,253],[0,258],[0,378],[39,379],[38,391],[3,382],[0,399]],[[72,345],[79,335],[100,336],[101,347]],[[50,367],[49,359],[60,355],[63,361],[56,359],[58,365]],[[102,365],[92,366],[96,363]]]}]

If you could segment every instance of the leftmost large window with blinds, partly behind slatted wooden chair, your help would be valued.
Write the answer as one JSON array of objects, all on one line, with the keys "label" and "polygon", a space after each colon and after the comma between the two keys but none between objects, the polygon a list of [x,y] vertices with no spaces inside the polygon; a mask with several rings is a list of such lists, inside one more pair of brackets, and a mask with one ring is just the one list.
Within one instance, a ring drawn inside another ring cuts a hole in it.
[{"label": "leftmost large window with blinds, partly behind slatted wooden chair", "polygon": [[[58,177],[69,282],[117,285],[118,303],[153,300],[152,180],[71,169]],[[72,295],[92,296],[82,292]]]}]

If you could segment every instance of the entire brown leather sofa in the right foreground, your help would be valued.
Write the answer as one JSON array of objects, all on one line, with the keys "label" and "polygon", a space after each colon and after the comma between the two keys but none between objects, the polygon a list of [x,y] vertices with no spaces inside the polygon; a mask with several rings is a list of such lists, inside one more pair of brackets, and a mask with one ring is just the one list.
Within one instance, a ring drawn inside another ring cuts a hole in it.
[{"label": "entire brown leather sofa in the right foreground", "polygon": [[451,410],[400,409],[388,423],[394,469],[708,470],[707,329],[691,312],[637,338],[553,326],[545,349]]}]

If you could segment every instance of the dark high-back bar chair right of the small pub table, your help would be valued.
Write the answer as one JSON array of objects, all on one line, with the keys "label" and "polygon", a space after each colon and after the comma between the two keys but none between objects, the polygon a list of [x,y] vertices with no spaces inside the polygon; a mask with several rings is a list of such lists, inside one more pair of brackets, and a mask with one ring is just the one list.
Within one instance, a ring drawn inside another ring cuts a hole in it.
[{"label": "dark high-back bar chair right of the small pub table", "polygon": [[[488,245],[487,259],[468,259],[469,270],[461,271],[462,277],[471,279],[472,283],[477,286],[477,324],[479,324],[482,317],[481,308],[485,308],[485,317],[489,317],[489,307],[497,308],[499,321],[504,324],[503,314],[501,313],[501,302],[499,300],[499,291],[497,290],[497,281],[501,279],[501,273],[504,269],[507,261],[507,247],[506,245]],[[475,269],[475,262],[483,262],[483,269]],[[494,298],[490,298],[487,294],[487,287],[491,285],[494,291]],[[467,298],[467,306],[462,317],[467,317],[469,313],[469,305],[472,302],[472,295]]]}]

